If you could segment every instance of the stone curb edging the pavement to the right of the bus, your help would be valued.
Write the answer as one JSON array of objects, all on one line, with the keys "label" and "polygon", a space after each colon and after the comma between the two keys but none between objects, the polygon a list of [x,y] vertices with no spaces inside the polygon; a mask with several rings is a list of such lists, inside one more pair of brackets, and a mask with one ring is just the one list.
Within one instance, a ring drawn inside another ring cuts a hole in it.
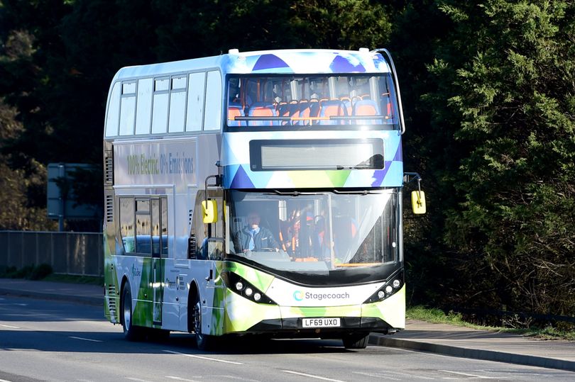
[{"label": "stone curb edging the pavement to the right of the bus", "polygon": [[369,337],[369,343],[379,346],[400,347],[402,349],[418,350],[422,352],[431,352],[444,354],[447,356],[457,356],[461,358],[482,359],[484,361],[498,361],[508,364],[520,364],[544,367],[547,369],[575,371],[575,361],[552,359],[546,358],[544,356],[528,356],[523,354],[496,352],[494,350],[469,349],[466,347],[455,347],[442,344],[432,344],[429,342],[420,342],[412,339],[385,338],[383,335],[373,334]]}]

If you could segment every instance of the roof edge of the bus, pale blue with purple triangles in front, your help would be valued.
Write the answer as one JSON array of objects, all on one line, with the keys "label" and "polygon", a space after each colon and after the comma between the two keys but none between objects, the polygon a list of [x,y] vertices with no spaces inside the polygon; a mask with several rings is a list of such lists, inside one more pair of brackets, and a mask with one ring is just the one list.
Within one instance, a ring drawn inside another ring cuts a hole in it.
[{"label": "roof edge of the bus, pale blue with purple triangles in front", "polygon": [[113,82],[163,74],[219,69],[222,74],[329,74],[329,73],[388,73],[388,63],[379,53],[361,50],[261,50],[124,67]]}]

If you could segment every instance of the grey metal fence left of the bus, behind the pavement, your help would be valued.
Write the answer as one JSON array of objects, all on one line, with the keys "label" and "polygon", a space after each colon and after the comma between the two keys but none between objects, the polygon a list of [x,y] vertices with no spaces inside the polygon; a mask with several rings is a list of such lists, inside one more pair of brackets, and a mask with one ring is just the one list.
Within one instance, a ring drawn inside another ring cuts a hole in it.
[{"label": "grey metal fence left of the bus, behind the pavement", "polygon": [[56,274],[102,276],[102,234],[0,231],[0,266],[50,264]]}]

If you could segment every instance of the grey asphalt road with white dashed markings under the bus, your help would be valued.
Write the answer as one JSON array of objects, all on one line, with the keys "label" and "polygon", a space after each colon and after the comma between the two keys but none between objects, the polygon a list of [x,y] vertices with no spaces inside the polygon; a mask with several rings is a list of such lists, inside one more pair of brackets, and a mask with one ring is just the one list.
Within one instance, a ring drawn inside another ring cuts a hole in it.
[{"label": "grey asphalt road with white dashed markings under the bus", "polygon": [[339,341],[238,339],[200,352],[187,334],[127,342],[92,305],[0,296],[1,381],[573,381],[570,371]]}]

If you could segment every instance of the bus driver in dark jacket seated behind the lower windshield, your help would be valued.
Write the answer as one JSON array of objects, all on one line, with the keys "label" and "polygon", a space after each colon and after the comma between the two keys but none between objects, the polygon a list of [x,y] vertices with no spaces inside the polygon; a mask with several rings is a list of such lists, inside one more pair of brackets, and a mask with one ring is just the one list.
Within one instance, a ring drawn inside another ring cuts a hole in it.
[{"label": "bus driver in dark jacket seated behind the lower windshield", "polygon": [[248,214],[248,225],[234,235],[234,249],[236,253],[250,251],[279,252],[280,245],[273,233],[266,227],[260,226],[260,215],[256,212]]}]

